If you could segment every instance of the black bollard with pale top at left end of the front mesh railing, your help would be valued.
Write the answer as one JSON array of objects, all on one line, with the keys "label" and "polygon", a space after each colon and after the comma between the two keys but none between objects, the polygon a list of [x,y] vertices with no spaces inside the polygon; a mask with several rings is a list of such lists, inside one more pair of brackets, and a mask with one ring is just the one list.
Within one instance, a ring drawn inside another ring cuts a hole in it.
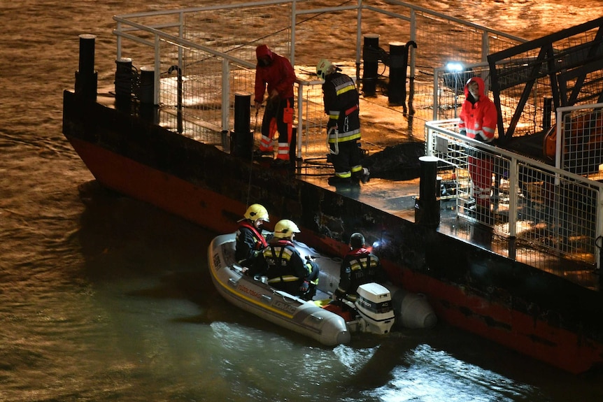
[{"label": "black bollard with pale top at left end of the front mesh railing", "polygon": [[419,196],[415,199],[415,223],[426,227],[440,224],[440,189],[437,179],[437,157],[419,157]]}]

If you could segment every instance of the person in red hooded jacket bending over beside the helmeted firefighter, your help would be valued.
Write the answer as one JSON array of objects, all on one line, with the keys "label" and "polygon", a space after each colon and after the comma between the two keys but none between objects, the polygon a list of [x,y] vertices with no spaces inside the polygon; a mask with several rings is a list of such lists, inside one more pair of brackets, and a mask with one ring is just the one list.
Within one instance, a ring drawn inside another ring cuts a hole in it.
[{"label": "person in red hooded jacket bending over beside the helmeted firefighter", "polygon": [[267,45],[257,46],[255,55],[255,110],[260,110],[264,93],[268,92],[262,118],[262,140],[256,155],[272,151],[273,136],[278,131],[278,150],[274,165],[285,166],[289,163],[292,136],[295,71],[287,58],[272,52]]}]

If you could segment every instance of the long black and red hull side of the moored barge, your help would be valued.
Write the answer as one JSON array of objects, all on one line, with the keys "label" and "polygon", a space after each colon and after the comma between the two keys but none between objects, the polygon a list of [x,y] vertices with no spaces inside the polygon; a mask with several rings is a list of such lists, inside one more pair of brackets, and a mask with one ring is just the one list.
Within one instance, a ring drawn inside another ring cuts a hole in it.
[{"label": "long black and red hull side of the moored barge", "polygon": [[[64,135],[101,184],[226,233],[248,197],[299,239],[343,254],[347,236],[378,238],[396,285],[425,294],[439,319],[572,373],[603,363],[600,292],[459,241],[299,180],[232,157],[122,113],[112,101],[64,92]],[[251,183],[251,185],[248,185]]]}]

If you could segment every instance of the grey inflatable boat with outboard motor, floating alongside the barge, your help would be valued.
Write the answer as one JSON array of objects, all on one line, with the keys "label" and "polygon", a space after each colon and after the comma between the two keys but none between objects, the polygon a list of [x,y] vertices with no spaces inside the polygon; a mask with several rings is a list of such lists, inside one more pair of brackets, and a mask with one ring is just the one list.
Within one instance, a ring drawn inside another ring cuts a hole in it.
[{"label": "grey inflatable boat with outboard motor, floating alongside the barge", "polygon": [[328,346],[348,343],[354,332],[388,333],[396,322],[406,328],[431,328],[436,324],[434,311],[423,295],[389,284],[359,287],[356,303],[349,303],[349,310],[355,313],[351,317],[320,307],[320,301],[329,299],[339,284],[341,259],[325,257],[304,243],[293,243],[302,258],[311,258],[320,266],[315,301],[274,289],[265,277],[245,275],[234,258],[234,233],[216,236],[209,245],[213,284],[234,306]]}]

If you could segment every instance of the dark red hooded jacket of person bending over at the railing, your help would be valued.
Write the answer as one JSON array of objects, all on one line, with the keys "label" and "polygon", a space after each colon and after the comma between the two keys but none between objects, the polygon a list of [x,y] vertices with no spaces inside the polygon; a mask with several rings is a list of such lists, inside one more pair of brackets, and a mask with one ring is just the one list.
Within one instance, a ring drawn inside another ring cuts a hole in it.
[{"label": "dark red hooded jacket of person bending over at the railing", "polygon": [[296,77],[289,59],[271,52],[267,45],[258,46],[255,49],[255,55],[258,59],[268,56],[272,62],[269,66],[258,65],[255,68],[254,101],[262,103],[267,84],[269,95],[273,89],[276,89],[279,99],[292,98],[294,96],[293,82],[295,82]]}]

